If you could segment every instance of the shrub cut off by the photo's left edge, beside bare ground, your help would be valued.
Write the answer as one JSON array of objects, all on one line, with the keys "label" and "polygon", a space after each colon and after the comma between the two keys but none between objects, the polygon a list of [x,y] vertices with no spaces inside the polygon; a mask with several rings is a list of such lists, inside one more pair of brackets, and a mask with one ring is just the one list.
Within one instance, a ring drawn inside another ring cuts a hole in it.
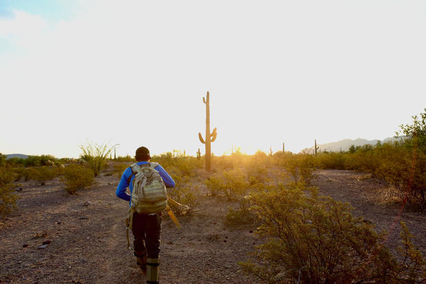
[{"label": "shrub cut off by the photo's left edge, beside bare ground", "polygon": [[16,208],[15,201],[19,197],[14,195],[12,190],[14,181],[14,172],[12,168],[1,166],[0,167],[0,215],[1,219],[4,219],[6,215],[12,212],[12,209]]}]

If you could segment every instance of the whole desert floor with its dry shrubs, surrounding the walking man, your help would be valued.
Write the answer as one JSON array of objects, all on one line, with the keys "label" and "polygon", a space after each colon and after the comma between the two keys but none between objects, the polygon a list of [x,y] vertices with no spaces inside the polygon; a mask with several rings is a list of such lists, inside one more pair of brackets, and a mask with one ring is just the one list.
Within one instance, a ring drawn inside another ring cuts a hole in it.
[{"label": "whole desert floor with its dry shrubs, surrounding the walking man", "polygon": [[[172,208],[180,231],[163,217],[162,283],[424,283],[425,120],[346,153],[237,152],[212,171],[153,157],[189,206]],[[0,155],[0,283],[144,283],[115,197],[134,161],[100,146],[82,160]]]}]

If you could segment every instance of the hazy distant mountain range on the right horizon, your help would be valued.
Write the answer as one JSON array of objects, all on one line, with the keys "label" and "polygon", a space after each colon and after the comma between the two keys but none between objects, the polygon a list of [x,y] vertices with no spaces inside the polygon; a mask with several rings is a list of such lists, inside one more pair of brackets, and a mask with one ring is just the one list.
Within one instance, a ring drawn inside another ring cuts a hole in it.
[{"label": "hazy distant mountain range on the right horizon", "polygon": [[[328,151],[328,152],[339,152],[339,151],[348,151],[350,146],[355,145],[355,146],[363,146],[366,144],[371,144],[371,145],[375,145],[377,144],[377,142],[381,142],[381,143],[386,143],[386,142],[394,142],[396,140],[401,140],[403,138],[394,138],[394,137],[390,137],[390,138],[386,138],[383,140],[366,140],[366,139],[362,139],[362,138],[357,138],[355,140],[352,139],[345,139],[345,140],[340,140],[337,142],[330,142],[330,143],[326,143],[326,144],[317,144],[317,147],[320,147],[320,149],[318,149],[318,152],[324,152],[324,151]],[[314,153],[315,146],[312,146],[311,148],[306,148],[303,149],[301,152],[302,153]]]}]

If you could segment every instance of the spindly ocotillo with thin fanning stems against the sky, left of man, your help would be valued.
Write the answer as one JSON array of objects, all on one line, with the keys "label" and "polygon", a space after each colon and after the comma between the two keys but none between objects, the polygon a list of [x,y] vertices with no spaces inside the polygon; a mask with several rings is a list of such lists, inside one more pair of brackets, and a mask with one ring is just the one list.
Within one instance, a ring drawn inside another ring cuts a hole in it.
[{"label": "spindly ocotillo with thin fanning stems against the sky, left of man", "polygon": [[80,145],[80,149],[83,151],[80,158],[87,162],[96,177],[105,168],[106,160],[108,160],[108,156],[115,146],[87,142],[86,145]]}]

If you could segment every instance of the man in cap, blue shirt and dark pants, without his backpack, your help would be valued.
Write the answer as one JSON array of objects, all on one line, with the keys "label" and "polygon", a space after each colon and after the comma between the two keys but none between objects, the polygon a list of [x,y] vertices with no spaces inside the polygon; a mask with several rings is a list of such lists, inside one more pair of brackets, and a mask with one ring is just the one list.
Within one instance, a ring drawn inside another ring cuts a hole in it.
[{"label": "man in cap, blue shirt and dark pants, without his backpack", "polygon": [[[146,147],[139,147],[136,150],[135,158],[137,163],[126,168],[120,179],[120,184],[118,184],[115,192],[117,197],[129,201],[132,206],[131,198],[135,196],[132,195],[133,180],[139,171],[145,171],[147,167],[153,167],[155,173],[159,174],[166,187],[175,187],[175,181],[163,167],[157,163],[149,162],[151,157]],[[144,184],[146,183],[145,178]],[[127,187],[130,189],[131,195],[126,193]],[[133,200],[133,203],[135,203],[135,200]],[[137,265],[146,272],[146,283],[151,284],[159,283],[161,214],[161,211],[149,214],[133,212],[133,216],[130,217],[134,239],[133,253],[136,256]]]}]

